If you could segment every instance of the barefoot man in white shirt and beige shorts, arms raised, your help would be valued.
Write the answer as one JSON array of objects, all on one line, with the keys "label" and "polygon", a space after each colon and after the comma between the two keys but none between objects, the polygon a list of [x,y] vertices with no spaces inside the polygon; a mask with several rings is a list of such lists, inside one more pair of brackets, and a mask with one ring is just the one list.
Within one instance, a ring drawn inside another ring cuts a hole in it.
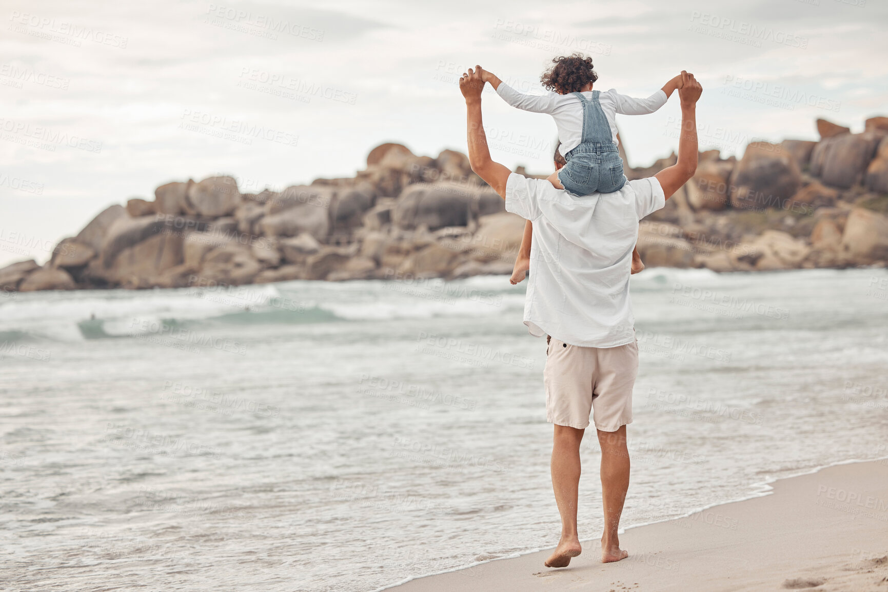
[{"label": "barefoot man in white shirt and beige shorts, arms raised", "polygon": [[[531,271],[524,323],[532,335],[549,335],[543,383],[546,415],[554,424],[552,489],[561,515],[561,539],[546,560],[565,567],[582,547],[576,532],[580,442],[592,414],[601,446],[605,529],[601,561],[620,561],[623,501],[629,489],[626,424],[632,421],[632,387],[638,344],[629,297],[632,248],[638,221],[662,208],[697,168],[696,102],[702,87],[682,71],[682,131],[678,162],[653,178],[614,193],[575,197],[547,180],[511,173],[490,158],[481,123],[480,66],[460,78],[468,114],[469,161],[505,200],[505,209],[533,222]],[[563,162],[555,163],[556,170]]]}]

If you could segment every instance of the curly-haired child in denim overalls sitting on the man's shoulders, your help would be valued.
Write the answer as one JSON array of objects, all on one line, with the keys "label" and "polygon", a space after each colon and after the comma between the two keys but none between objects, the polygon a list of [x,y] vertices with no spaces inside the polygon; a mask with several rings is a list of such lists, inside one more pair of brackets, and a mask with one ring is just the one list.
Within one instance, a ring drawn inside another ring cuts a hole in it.
[{"label": "curly-haired child in denim overalls sitting on the man's shoulders", "polygon": [[[567,161],[560,170],[552,173],[549,178],[552,185],[577,196],[619,191],[626,183],[626,176],[617,152],[614,114],[654,113],[666,103],[672,91],[680,87],[681,75],[647,99],[633,99],[614,89],[592,91],[592,83],[599,79],[599,75],[592,69],[591,58],[575,53],[553,58],[552,63],[554,66],[546,70],[540,80],[547,90],[554,92],[543,96],[515,91],[487,70],[481,70],[481,80],[490,83],[496,94],[512,107],[551,114],[558,126],[560,146],[556,154],[560,152]],[[530,220],[527,220],[511,272],[512,284],[524,280],[530,269],[532,229]],[[644,268],[638,249],[633,249],[631,272],[637,273]]]}]

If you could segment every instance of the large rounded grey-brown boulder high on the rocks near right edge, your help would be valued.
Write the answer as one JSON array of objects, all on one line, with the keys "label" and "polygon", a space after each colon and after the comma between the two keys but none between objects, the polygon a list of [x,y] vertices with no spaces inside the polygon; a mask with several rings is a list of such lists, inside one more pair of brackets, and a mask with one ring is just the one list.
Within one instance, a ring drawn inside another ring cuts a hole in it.
[{"label": "large rounded grey-brown boulder high on the rocks near right edge", "polygon": [[843,189],[860,183],[883,136],[865,131],[821,141],[811,155],[811,174],[827,185]]}]

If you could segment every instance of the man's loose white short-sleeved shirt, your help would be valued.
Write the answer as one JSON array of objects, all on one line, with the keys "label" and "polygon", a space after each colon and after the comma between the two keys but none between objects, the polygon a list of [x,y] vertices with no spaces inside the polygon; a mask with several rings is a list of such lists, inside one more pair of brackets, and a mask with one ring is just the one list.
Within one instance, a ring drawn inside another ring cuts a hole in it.
[{"label": "man's loose white short-sleeved shirt", "polygon": [[505,209],[534,224],[524,324],[531,335],[584,347],[635,341],[629,295],[638,222],[666,205],[656,178],[576,197],[512,173]]}]

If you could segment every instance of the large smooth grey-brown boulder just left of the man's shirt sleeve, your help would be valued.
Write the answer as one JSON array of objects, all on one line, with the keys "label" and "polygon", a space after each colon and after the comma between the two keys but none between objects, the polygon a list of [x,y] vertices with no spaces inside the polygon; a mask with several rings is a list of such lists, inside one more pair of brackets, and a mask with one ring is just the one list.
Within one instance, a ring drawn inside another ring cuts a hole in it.
[{"label": "large smooth grey-brown boulder just left of the man's shirt sleeve", "polygon": [[474,217],[475,199],[476,194],[464,185],[417,183],[400,194],[392,222],[407,229],[466,226]]}]

